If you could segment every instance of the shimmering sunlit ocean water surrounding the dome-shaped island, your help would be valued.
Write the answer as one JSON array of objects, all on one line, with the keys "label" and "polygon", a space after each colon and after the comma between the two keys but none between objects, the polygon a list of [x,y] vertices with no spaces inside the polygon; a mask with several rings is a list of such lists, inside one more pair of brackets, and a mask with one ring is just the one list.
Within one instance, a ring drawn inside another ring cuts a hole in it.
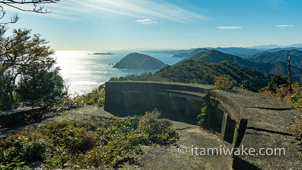
[{"label": "shimmering sunlit ocean water surrounding the dome-shaped island", "polygon": [[[112,68],[129,53],[137,51],[56,51],[56,65],[61,68],[63,79],[70,82],[71,94],[81,95],[110,80],[111,77],[141,74],[145,71],[156,72],[155,69],[117,69]],[[88,55],[93,53],[113,53],[114,55]],[[138,53],[140,53],[138,51]],[[172,58],[173,54],[142,53],[161,60],[165,64],[175,64],[182,60]],[[111,65],[108,65],[111,63]]]}]

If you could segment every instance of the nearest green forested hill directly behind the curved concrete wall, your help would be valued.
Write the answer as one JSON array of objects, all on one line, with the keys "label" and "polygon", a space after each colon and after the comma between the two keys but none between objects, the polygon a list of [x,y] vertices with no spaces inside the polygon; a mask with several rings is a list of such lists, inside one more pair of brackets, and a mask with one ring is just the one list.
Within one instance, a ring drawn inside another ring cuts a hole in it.
[{"label": "nearest green forested hill directly behind the curved concrete wall", "polygon": [[246,88],[258,91],[271,81],[271,74],[263,74],[255,69],[241,66],[230,61],[209,63],[205,61],[186,60],[179,65],[167,66],[153,75],[145,72],[141,75],[111,78],[112,80],[169,81],[183,83],[213,84],[214,76],[230,75],[234,82],[246,81]]}]

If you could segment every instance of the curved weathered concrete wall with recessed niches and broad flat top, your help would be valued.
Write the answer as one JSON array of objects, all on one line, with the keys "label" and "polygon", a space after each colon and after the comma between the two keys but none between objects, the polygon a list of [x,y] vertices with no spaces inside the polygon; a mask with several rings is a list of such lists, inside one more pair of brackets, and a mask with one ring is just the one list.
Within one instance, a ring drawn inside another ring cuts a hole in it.
[{"label": "curved weathered concrete wall with recessed niches and broad flat top", "polygon": [[212,85],[106,82],[104,109],[117,116],[157,108],[164,117],[196,124],[205,105],[207,127],[229,149],[239,149],[239,154],[233,152],[234,169],[302,169],[301,143],[285,130],[300,112],[284,102],[246,90],[215,90]]}]

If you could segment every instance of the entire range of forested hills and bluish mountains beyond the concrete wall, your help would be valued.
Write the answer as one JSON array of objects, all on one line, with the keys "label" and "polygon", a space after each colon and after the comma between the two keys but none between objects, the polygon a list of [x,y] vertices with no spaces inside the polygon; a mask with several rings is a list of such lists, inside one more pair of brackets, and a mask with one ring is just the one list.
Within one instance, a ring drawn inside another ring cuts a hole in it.
[{"label": "entire range of forested hills and bluish mountains beyond the concrete wall", "polygon": [[[212,49],[212,50],[210,50]],[[213,84],[215,76],[229,75],[236,84],[246,81],[247,89],[258,91],[267,86],[273,74],[288,75],[286,64],[290,56],[293,80],[302,82],[302,48],[288,47],[269,50],[257,50],[249,48],[197,48],[190,50],[165,50],[159,53],[177,53],[173,57],[184,58],[172,66],[162,66],[154,74],[147,73],[137,76],[129,76],[116,80],[138,81],[172,81],[185,83]],[[219,51],[220,50],[220,51]],[[185,52],[187,51],[187,52]],[[188,53],[191,51],[190,53]],[[223,53],[221,51],[229,52]],[[154,51],[150,51],[154,52]],[[234,54],[244,54],[242,58]],[[252,53],[252,54],[251,54]],[[142,54],[133,53],[138,56]],[[250,55],[247,55],[250,54]],[[129,54],[130,55],[130,54]],[[146,56],[146,55],[144,55]],[[143,59],[144,60],[144,59]],[[121,60],[122,61],[122,60]],[[134,63],[133,58],[128,64]],[[140,65],[140,64],[139,64]]]}]

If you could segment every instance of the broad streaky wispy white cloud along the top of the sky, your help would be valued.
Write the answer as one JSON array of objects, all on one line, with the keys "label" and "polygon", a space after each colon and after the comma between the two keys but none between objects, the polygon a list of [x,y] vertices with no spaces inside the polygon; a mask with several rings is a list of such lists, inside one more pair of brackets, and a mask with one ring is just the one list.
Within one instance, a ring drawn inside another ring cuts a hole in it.
[{"label": "broad streaky wispy white cloud along the top of the sky", "polygon": [[189,23],[211,19],[165,1],[152,0],[64,0],[57,4],[46,4],[45,8],[52,12],[43,16],[68,20],[131,16]]}]

